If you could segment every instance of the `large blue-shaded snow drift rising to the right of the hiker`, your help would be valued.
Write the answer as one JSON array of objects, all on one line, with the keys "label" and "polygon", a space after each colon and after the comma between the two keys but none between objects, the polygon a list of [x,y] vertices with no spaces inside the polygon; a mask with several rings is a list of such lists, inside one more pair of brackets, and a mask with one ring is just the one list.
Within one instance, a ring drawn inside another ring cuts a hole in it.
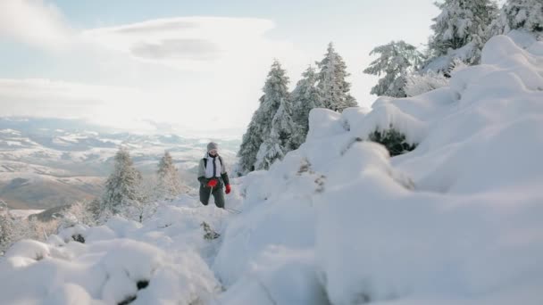
[{"label": "large blue-shaded snow drift rising to the right of the hiker", "polygon": [[[494,37],[449,87],[370,112],[313,110],[299,150],[242,178],[221,300],[542,303],[543,43],[522,45]],[[417,149],[363,141],[390,126]]]}]

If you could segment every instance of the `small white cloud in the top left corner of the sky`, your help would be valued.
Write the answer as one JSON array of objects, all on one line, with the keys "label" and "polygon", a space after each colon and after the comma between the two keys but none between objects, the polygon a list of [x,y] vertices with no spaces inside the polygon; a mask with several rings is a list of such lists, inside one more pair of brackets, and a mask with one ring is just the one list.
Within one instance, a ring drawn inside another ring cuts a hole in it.
[{"label": "small white cloud in the top left corner of the sky", "polygon": [[71,29],[62,13],[41,0],[0,1],[0,37],[48,51],[59,51],[71,43]]}]

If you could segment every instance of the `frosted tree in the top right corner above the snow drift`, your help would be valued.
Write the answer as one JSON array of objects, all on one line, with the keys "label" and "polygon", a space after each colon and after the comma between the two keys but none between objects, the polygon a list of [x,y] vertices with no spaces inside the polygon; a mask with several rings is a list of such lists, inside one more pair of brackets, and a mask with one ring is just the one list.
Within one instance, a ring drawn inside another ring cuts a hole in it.
[{"label": "frosted tree in the top right corner above the snow drift", "polygon": [[523,29],[543,37],[543,2],[507,0],[492,22],[492,34],[507,34],[513,29]]}]

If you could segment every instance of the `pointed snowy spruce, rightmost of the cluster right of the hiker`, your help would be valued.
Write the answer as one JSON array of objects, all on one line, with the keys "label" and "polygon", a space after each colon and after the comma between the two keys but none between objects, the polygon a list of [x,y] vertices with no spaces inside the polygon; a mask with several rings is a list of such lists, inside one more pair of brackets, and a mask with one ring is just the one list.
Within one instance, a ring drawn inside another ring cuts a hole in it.
[{"label": "pointed snowy spruce, rightmost of the cluster right of the hiker", "polygon": [[317,62],[320,71],[317,76],[317,87],[322,93],[324,107],[332,111],[343,111],[348,107],[355,107],[356,100],[350,95],[351,84],[345,78],[347,65],[334,50],[332,43],[328,45],[328,51],[321,62]]}]

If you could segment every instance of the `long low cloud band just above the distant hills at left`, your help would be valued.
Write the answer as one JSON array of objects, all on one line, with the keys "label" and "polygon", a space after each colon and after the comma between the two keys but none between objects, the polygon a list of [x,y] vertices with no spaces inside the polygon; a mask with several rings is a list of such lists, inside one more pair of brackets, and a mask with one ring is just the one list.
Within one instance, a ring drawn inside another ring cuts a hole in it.
[{"label": "long low cloud band just above the distant hills at left", "polygon": [[[196,93],[196,91],[195,91]],[[244,128],[213,125],[171,93],[44,78],[0,78],[0,117],[82,119],[136,132],[240,136]],[[205,106],[205,105],[204,105]]]}]

